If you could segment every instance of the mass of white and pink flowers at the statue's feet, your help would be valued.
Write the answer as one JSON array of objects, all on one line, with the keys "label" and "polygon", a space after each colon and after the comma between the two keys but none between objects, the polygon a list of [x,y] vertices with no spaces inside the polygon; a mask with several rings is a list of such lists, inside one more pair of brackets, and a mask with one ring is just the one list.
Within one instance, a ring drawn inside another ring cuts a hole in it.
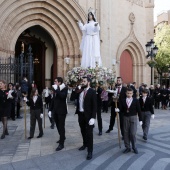
[{"label": "mass of white and pink flowers at the statue's feet", "polygon": [[95,87],[96,84],[113,84],[115,82],[115,74],[112,69],[96,66],[96,68],[74,67],[67,72],[66,83],[74,87],[78,85],[85,76],[91,78],[91,86],[93,87]]}]

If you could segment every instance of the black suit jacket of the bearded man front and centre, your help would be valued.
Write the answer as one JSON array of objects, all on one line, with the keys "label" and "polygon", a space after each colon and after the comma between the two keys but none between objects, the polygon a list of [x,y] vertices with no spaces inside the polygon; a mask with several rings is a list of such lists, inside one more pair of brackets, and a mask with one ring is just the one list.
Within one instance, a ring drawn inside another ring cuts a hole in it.
[{"label": "black suit jacket of the bearded man front and centre", "polygon": [[[77,95],[77,109],[75,114],[82,114],[79,111],[79,96],[82,90],[78,91]],[[97,112],[97,96],[96,91],[92,88],[89,88],[86,96],[84,98],[84,115],[87,120],[90,120],[91,118],[96,118],[96,112]]]}]

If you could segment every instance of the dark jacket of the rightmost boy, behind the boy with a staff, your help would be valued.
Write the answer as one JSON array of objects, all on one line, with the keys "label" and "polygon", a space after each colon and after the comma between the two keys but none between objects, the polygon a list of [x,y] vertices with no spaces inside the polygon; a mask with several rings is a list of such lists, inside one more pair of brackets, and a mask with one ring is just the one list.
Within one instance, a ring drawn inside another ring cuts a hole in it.
[{"label": "dark jacket of the rightmost boy, behind the boy with a staff", "polygon": [[139,103],[142,112],[150,111],[152,114],[154,114],[153,102],[150,97],[146,97],[145,103],[143,102],[143,98],[140,97]]}]

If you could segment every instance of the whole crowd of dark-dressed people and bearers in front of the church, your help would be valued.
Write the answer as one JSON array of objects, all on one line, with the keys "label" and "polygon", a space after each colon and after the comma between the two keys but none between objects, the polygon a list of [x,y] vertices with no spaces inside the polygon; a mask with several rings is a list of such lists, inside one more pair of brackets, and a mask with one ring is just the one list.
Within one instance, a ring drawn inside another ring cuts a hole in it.
[{"label": "whole crowd of dark-dressed people and bearers in front of the church", "polygon": [[[138,153],[136,148],[136,131],[137,131],[137,115],[139,124],[143,129],[143,139],[146,141],[149,132],[150,119],[154,119],[155,109],[167,109],[170,105],[170,88],[165,85],[160,87],[148,87],[142,83],[137,89],[136,83],[126,85],[123,84],[122,78],[117,77],[117,82],[110,86],[96,84],[95,88],[90,87],[91,80],[84,77],[83,81],[76,87],[70,87],[64,84],[61,77],[54,80],[52,88],[46,87],[41,95],[35,83],[31,84],[31,90],[28,86],[28,80],[23,78],[21,84],[7,84],[4,80],[0,80],[0,116],[3,124],[3,133],[1,139],[9,135],[7,128],[7,120],[15,118],[21,119],[20,108],[23,101],[30,107],[30,136],[34,137],[36,120],[39,127],[39,135],[41,138],[43,133],[42,118],[43,104],[48,109],[48,116],[51,122],[51,129],[55,124],[59,133],[59,143],[56,151],[64,148],[65,136],[65,120],[68,113],[67,102],[74,102],[76,114],[78,114],[78,122],[83,138],[83,145],[79,150],[87,148],[87,160],[92,158],[93,153],[93,128],[97,117],[99,136],[102,135],[102,116],[101,113],[108,113],[111,107],[110,124],[106,133],[110,133],[115,125],[116,114],[119,113],[120,130],[122,140],[125,143],[124,153],[128,153],[132,149],[134,153]],[[68,93],[68,91],[70,91]],[[117,98],[118,97],[118,98]],[[44,98],[44,103],[43,103]]]}]

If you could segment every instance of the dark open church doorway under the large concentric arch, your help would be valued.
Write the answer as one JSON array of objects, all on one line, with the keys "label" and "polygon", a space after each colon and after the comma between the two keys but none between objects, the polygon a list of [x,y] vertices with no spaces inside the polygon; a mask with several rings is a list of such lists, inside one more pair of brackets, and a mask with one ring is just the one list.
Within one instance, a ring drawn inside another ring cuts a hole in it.
[{"label": "dark open church doorway under the large concentric arch", "polygon": [[[29,45],[32,47],[33,54],[32,80],[35,82],[39,93],[41,93],[45,86],[51,87],[51,78],[57,74],[56,71],[52,70],[51,72],[53,61],[57,58],[56,46],[52,37],[41,26],[30,27],[20,34],[15,45],[16,58],[20,57],[21,50],[23,50],[21,46],[24,46],[24,54],[26,54]],[[54,67],[56,69],[56,62]],[[27,77],[27,75],[24,76]]]}]

